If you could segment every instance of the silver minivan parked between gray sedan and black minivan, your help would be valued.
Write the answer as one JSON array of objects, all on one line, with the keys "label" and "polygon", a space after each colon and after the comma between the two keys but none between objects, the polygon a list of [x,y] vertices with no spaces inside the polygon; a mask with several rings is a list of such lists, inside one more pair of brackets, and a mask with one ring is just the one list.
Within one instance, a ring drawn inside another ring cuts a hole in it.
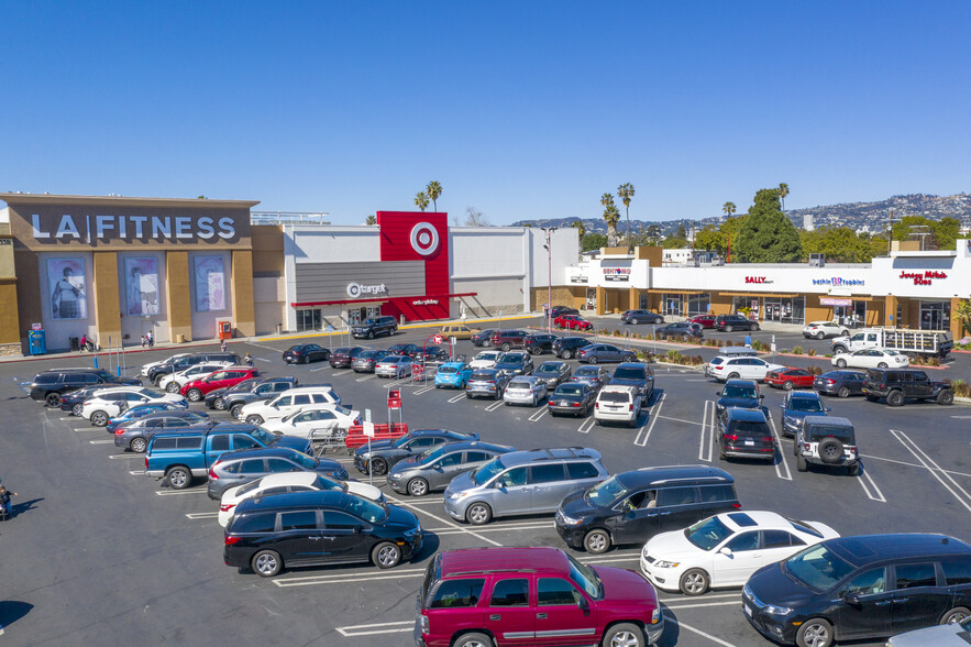
[{"label": "silver minivan parked between gray sedan and black minivan", "polygon": [[607,476],[595,449],[512,451],[455,476],[445,489],[445,511],[476,526],[493,517],[555,513],[563,498]]}]

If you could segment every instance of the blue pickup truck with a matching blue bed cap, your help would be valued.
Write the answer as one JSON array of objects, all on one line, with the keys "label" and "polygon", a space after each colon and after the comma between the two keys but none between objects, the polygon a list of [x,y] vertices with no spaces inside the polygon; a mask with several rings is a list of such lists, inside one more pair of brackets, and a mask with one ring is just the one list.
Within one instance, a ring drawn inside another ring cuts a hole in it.
[{"label": "blue pickup truck with a matching blue bed cap", "polygon": [[153,436],[145,451],[145,474],[183,490],[192,484],[194,478],[206,476],[227,451],[261,447],[288,447],[307,454],[312,451],[306,438],[275,436],[254,425],[210,423]]}]

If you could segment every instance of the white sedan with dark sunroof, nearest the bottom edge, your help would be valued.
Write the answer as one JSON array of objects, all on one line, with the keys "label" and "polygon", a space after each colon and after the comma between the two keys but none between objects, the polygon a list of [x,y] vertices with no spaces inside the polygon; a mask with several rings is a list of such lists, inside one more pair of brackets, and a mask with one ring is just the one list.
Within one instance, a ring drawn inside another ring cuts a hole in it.
[{"label": "white sedan with dark sunroof, nearest the bottom edge", "polygon": [[641,572],[664,591],[700,595],[709,588],[742,586],[763,566],[834,537],[839,534],[819,522],[772,512],[722,513],[654,536],[641,551]]}]

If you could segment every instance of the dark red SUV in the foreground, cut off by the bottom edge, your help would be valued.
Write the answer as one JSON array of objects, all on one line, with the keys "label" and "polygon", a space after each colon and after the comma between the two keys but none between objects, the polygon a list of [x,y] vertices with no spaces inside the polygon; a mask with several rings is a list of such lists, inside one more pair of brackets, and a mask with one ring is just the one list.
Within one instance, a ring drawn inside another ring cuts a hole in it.
[{"label": "dark red SUV in the foreground, cut off by the bottom edge", "polygon": [[643,647],[664,630],[647,580],[582,564],[556,548],[440,552],[426,570],[418,613],[418,647]]}]

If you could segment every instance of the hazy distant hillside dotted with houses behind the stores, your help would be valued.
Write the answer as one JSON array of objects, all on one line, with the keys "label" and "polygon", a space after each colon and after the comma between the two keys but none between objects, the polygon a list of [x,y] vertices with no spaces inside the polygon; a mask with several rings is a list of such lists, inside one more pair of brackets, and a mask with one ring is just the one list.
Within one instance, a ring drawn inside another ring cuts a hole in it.
[{"label": "hazy distant hillside dotted with houses behind the stores", "polygon": [[[813,216],[813,226],[820,227],[849,227],[854,230],[867,230],[871,232],[880,232],[890,222],[891,210],[893,210],[894,220],[904,216],[924,216],[933,220],[950,217],[962,221],[964,224],[971,226],[971,195],[957,194],[953,196],[930,196],[926,194],[914,194],[908,196],[893,196],[886,200],[879,202],[846,202],[842,205],[829,205],[813,207],[809,209],[792,209],[786,210],[786,216],[802,228],[805,216]],[[548,218],[540,220],[519,220],[514,222],[512,227],[571,227],[575,220],[583,220],[584,227],[588,233],[607,233],[607,223],[603,218]],[[700,218],[692,220],[682,218],[678,220],[631,220],[631,232],[640,231],[649,224],[658,224],[664,235],[670,235],[677,231],[678,226],[684,224],[685,229],[691,232],[692,223],[696,228],[706,224],[719,224],[725,220],[725,216],[713,216],[709,218]],[[618,231],[624,234],[627,228],[627,221],[621,217],[620,223],[617,226]]]}]

